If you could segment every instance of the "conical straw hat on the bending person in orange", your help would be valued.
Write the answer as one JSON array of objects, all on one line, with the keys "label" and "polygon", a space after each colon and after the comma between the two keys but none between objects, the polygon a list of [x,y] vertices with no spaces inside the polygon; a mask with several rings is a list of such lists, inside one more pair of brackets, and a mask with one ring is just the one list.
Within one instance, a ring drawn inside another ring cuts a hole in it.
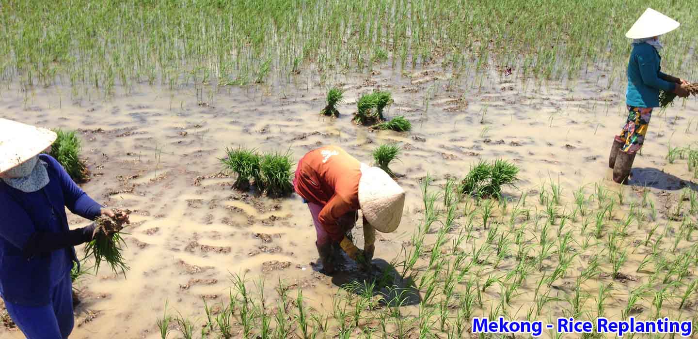
[{"label": "conical straw hat on the bending person in orange", "polygon": [[371,226],[383,233],[393,232],[402,218],[403,190],[383,169],[362,164],[359,179],[359,206]]}]

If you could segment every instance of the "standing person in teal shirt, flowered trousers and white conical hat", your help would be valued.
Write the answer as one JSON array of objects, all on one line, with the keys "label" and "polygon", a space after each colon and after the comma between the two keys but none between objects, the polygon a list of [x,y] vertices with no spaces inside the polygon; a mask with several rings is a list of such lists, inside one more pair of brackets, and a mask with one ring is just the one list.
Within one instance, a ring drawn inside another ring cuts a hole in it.
[{"label": "standing person in teal shirt, flowered trousers and white conical hat", "polygon": [[652,116],[652,109],[659,107],[660,90],[674,92],[679,97],[688,96],[685,88],[688,82],[678,77],[662,73],[659,51],[662,44],[659,36],[678,27],[678,22],[647,8],[625,36],[632,40],[632,52],[628,61],[628,92],[625,103],[628,105],[628,119],[621,135],[616,135],[609,167],[613,169],[616,183],[625,183],[630,176],[630,168],[635,153],[644,144],[647,127]]}]

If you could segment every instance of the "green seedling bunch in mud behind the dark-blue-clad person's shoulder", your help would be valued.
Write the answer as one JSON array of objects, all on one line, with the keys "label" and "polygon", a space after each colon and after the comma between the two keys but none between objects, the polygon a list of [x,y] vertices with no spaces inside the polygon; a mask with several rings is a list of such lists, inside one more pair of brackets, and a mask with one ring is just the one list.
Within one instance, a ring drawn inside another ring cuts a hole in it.
[{"label": "green seedling bunch in mud behind the dark-blue-clad person's shoulder", "polygon": [[78,183],[83,183],[89,180],[89,171],[80,159],[80,150],[82,149],[80,138],[75,135],[75,131],[66,132],[60,128],[55,129],[56,141],[51,145],[50,156],[56,158],[73,178]]}]

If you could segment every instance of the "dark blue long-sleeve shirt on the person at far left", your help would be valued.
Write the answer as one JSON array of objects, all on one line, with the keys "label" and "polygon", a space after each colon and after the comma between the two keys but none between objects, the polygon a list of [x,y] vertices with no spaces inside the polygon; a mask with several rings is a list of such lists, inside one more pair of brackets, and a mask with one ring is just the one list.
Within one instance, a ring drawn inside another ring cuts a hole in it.
[{"label": "dark blue long-sleeve shirt on the person at far left", "polygon": [[10,303],[43,306],[50,303],[50,287],[59,283],[77,262],[75,248],[62,248],[27,259],[22,248],[36,232],[68,232],[66,207],[94,220],[101,205],[75,184],[58,161],[47,154],[49,183],[24,193],[0,181],[0,293]]}]

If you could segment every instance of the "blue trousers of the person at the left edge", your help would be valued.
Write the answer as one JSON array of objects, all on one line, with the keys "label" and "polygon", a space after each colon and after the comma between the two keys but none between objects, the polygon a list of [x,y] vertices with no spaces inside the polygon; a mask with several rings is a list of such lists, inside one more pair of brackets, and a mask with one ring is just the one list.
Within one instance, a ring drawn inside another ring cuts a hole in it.
[{"label": "blue trousers of the person at the left edge", "polygon": [[23,306],[6,301],[5,307],[27,339],[67,339],[75,322],[70,274],[52,287],[51,299],[46,306]]}]

